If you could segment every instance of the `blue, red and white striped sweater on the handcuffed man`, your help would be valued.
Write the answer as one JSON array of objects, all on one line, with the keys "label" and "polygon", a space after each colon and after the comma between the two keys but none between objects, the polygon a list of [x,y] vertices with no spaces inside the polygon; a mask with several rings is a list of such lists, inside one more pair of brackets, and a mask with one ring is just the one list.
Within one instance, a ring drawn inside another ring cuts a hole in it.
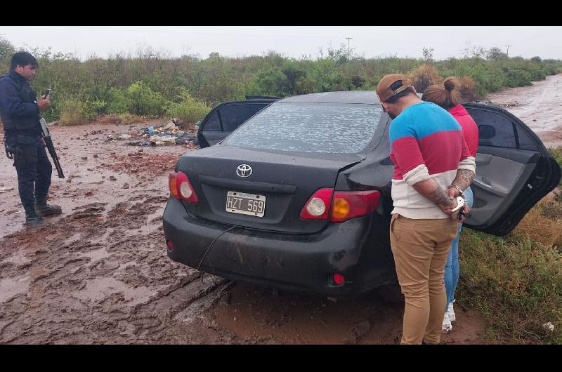
[{"label": "blue, red and white striped sweater on the handcuffed man", "polygon": [[392,213],[414,219],[449,218],[412,185],[431,177],[446,190],[455,180],[457,169],[476,171],[476,161],[457,120],[434,103],[419,102],[392,121],[390,142],[394,163]]}]

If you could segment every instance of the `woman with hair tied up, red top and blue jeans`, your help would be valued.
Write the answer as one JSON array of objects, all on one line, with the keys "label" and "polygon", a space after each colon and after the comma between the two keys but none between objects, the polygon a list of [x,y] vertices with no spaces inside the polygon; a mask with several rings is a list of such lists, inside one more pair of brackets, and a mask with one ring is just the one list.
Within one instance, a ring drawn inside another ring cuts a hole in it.
[{"label": "woman with hair tied up, red top and blue jeans", "polygon": [[[466,145],[469,147],[471,157],[476,158],[476,150],[478,149],[478,126],[472,117],[466,112],[466,109],[459,104],[460,94],[457,89],[459,81],[454,77],[449,77],[443,81],[443,84],[431,85],[424,91],[421,100],[433,102],[452,114],[462,126],[462,134]],[[449,190],[455,190],[455,186],[451,185]],[[447,190],[448,191],[448,190]],[[464,197],[472,208],[473,193],[470,187],[466,188]],[[461,194],[459,190],[455,191],[455,196]],[[455,321],[455,311],[452,303],[455,302],[455,289],[459,281],[459,237],[461,234],[462,224],[459,224],[457,237],[452,241],[451,250],[447,256],[445,264],[445,291],[447,293],[447,307],[445,309],[445,317],[443,317],[443,332],[452,331],[451,321]]]}]

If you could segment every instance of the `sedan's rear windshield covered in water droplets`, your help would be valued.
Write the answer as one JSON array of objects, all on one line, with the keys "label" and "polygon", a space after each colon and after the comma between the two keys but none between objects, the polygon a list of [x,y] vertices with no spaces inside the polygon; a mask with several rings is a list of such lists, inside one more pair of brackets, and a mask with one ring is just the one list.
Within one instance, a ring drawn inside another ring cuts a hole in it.
[{"label": "sedan's rear windshield covered in water droplets", "polygon": [[355,154],[371,142],[380,105],[274,103],[238,127],[226,145],[294,152]]}]

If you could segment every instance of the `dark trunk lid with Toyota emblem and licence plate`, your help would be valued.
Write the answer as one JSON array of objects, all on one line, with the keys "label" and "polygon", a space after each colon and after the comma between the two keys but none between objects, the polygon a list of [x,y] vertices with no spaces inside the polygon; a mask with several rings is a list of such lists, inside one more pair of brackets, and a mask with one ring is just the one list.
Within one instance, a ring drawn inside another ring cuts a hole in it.
[{"label": "dark trunk lid with Toyota emblem and licence plate", "polygon": [[199,198],[198,204],[184,202],[192,215],[260,230],[313,233],[328,221],[302,220],[303,206],[316,190],[333,188],[342,169],[364,159],[362,154],[297,154],[217,145],[185,154],[176,170],[188,175]]}]

